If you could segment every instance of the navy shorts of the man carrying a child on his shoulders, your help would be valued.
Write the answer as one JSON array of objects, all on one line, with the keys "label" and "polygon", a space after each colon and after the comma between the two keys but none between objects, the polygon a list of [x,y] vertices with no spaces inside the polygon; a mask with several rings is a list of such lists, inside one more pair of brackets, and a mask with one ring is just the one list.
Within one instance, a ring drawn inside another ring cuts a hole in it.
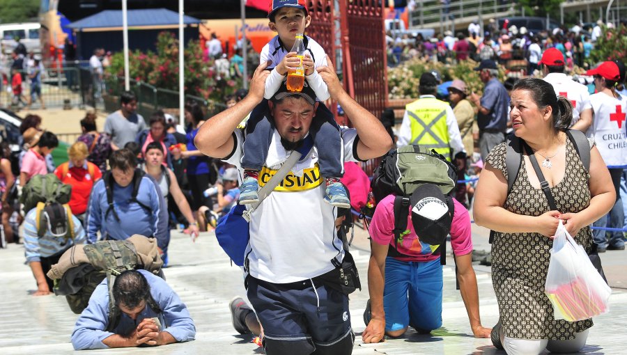
[{"label": "navy shorts of the man carrying a child on his shoulders", "polygon": [[309,280],[277,284],[248,276],[247,281],[248,299],[263,326],[266,354],[353,352],[355,334],[346,294]]}]

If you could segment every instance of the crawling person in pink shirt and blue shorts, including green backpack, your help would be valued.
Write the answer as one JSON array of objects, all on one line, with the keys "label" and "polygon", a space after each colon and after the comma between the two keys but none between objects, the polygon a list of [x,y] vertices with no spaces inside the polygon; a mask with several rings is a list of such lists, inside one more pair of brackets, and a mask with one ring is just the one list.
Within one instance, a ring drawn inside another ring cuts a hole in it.
[{"label": "crawling person in pink shirt and blue shorts, including green backpack", "polygon": [[479,317],[470,216],[451,196],[455,178],[456,168],[443,155],[421,152],[418,145],[392,150],[375,172],[372,188],[378,203],[369,228],[364,342],[402,336],[409,326],[419,333],[442,326],[442,265],[449,233],[472,333],[490,336]]}]

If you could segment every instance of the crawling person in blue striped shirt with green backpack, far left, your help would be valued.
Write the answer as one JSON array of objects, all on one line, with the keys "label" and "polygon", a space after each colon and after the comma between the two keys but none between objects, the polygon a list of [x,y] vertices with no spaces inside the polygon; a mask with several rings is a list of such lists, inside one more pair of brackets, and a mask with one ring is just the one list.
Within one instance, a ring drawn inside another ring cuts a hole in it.
[{"label": "crawling person in blue striped shirt with green backpack, far left", "polygon": [[52,293],[53,281],[46,274],[61,255],[75,244],[87,241],[81,222],[68,206],[72,187],[54,174],[35,175],[22,191],[24,204],[24,255],[37,281],[35,296]]}]

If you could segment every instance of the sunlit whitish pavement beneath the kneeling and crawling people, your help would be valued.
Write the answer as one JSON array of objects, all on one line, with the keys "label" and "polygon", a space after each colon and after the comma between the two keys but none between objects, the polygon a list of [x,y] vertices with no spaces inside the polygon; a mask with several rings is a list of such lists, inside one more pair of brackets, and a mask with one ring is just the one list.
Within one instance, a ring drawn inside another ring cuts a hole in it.
[{"label": "sunlit whitish pavement beneath the kneeling and crawling people", "polygon": [[[479,227],[477,227],[479,228]],[[361,292],[350,295],[350,312],[357,335],[353,354],[504,354],[497,352],[488,339],[472,337],[463,301],[455,290],[454,269],[444,267],[444,326],[430,336],[409,331],[398,339],[366,345],[360,335],[365,329],[362,313],[368,299],[366,268],[369,259],[369,241],[366,233],[356,228],[353,251],[362,276]],[[487,244],[485,231],[477,230],[475,245]],[[70,334],[77,315],[74,315],[63,297],[33,297],[35,282],[28,266],[24,265],[23,246],[10,244],[0,249],[0,338],[1,354],[67,354],[72,352]],[[173,232],[170,245],[171,267],[165,269],[168,283],[187,304],[196,322],[196,340],[183,344],[150,349],[109,349],[95,353],[149,352],[150,354],[260,354],[252,344],[251,336],[240,336],[231,326],[229,301],[235,295],[245,295],[242,273],[231,267],[212,232],[202,233],[195,244],[181,232]],[[448,248],[450,251],[451,249]],[[610,267],[625,269],[624,252],[602,254],[606,272]],[[623,260],[622,262],[620,260]],[[297,262],[297,260],[295,260]],[[477,282],[483,325],[497,321],[498,309],[490,281],[489,267],[477,265]],[[611,283],[617,282],[608,273]],[[622,282],[622,281],[621,281]],[[627,292],[614,288],[610,313],[594,319],[585,353],[621,354],[627,347],[624,333],[627,325]]]}]

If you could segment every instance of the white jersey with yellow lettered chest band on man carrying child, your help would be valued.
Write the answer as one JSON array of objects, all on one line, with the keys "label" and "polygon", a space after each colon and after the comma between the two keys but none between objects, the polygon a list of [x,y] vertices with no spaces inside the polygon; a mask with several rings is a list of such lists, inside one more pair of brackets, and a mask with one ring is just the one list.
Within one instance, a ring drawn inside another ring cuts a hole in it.
[{"label": "white jersey with yellow lettered chest band on man carrying child", "polygon": [[[345,161],[359,161],[354,149],[359,141],[357,131],[343,128],[341,135]],[[240,172],[242,137],[242,131],[236,129],[235,149],[224,159]],[[280,139],[274,131],[268,159],[259,172],[260,187],[289,157]],[[246,248],[251,276],[270,283],[293,283],[325,274],[334,269],[332,258],[343,259],[342,241],[335,230],[337,208],[324,200],[324,181],[314,147],[251,213]]]}]

